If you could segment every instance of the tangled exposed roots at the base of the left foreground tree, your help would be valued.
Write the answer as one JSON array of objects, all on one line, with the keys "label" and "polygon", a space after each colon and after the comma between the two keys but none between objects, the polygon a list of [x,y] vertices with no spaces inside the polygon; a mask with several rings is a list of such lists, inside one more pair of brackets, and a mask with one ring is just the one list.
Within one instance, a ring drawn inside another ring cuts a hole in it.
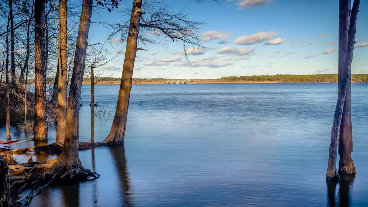
[{"label": "tangled exposed roots at the base of the left foreground tree", "polygon": [[95,179],[100,176],[89,169],[85,169],[80,162],[70,164],[61,161],[59,158],[28,164],[17,164],[16,166],[20,169],[26,169],[26,172],[21,172],[20,174],[22,175],[11,173],[11,180],[16,180],[12,184],[13,192],[19,194],[25,189],[32,188],[32,190],[28,195],[18,198],[12,205],[24,199],[27,199],[26,203],[29,203],[41,189],[49,186],[52,182],[76,182]]}]

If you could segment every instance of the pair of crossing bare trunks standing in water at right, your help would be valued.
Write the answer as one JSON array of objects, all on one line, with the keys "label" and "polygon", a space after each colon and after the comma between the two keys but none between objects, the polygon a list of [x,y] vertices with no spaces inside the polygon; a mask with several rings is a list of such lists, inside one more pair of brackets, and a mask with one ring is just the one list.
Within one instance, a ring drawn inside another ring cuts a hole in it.
[{"label": "pair of crossing bare trunks standing in water at right", "polygon": [[350,91],[351,62],[355,44],[357,16],[360,0],[340,0],[339,6],[339,95],[331,130],[328,168],[326,180],[339,180],[336,170],[337,146],[339,143],[339,172],[355,173],[355,165],[351,159],[353,136],[351,132]]}]

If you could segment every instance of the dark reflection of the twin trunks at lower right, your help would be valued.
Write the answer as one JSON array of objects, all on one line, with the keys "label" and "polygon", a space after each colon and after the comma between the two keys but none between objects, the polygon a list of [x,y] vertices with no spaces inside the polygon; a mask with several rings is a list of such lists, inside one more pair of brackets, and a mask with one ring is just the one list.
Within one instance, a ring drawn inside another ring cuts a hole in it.
[{"label": "dark reflection of the twin trunks at lower right", "polygon": [[[350,188],[354,183],[354,176],[341,176],[340,182],[327,182],[328,206],[336,207],[336,200],[339,201],[339,207],[350,207]],[[336,186],[339,184],[339,193],[336,194]]]}]

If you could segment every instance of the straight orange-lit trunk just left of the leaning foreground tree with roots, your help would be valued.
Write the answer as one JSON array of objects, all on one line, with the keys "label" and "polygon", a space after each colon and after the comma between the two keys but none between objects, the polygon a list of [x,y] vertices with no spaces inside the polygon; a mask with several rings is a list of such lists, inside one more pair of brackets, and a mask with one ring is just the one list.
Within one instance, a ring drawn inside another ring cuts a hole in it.
[{"label": "straight orange-lit trunk just left of the leaning foreground tree with roots", "polygon": [[[59,0],[60,57],[57,92],[56,142],[64,144],[67,116],[67,0]],[[84,69],[83,69],[84,70]],[[78,101],[79,104],[79,101]],[[79,107],[79,105],[78,105]],[[79,110],[79,109],[78,109]]]}]

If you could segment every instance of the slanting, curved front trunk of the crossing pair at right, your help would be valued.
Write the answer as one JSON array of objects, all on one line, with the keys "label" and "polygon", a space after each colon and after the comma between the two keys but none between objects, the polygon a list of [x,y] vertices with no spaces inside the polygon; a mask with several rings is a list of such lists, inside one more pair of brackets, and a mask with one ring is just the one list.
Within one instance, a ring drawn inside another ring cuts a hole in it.
[{"label": "slanting, curved front trunk of the crossing pair at right", "polygon": [[[341,55],[343,57],[344,62],[342,63],[342,67],[344,70],[342,71],[339,80],[339,95],[336,103],[335,116],[333,118],[333,125],[331,130],[331,143],[329,150],[329,160],[328,160],[328,168],[326,173],[326,180],[339,180],[340,177],[337,174],[336,170],[336,157],[337,157],[337,143],[340,137],[340,129],[343,117],[343,111],[347,99],[348,90],[350,89],[351,83],[351,62],[353,61],[353,49],[355,43],[355,32],[356,32],[356,22],[357,22],[357,14],[360,0],[354,0],[353,9],[351,10],[351,0],[340,0],[340,13],[339,15],[347,15],[350,17],[350,24],[348,30],[347,44],[346,50]],[[351,16],[350,16],[351,10]],[[341,16],[340,16],[341,17]],[[348,24],[349,21],[345,23]],[[343,22],[339,22],[342,24]],[[341,27],[340,27],[341,28]],[[340,55],[340,52],[339,52]],[[339,58],[340,59],[340,58]],[[350,154],[350,151],[349,151]]]}]

